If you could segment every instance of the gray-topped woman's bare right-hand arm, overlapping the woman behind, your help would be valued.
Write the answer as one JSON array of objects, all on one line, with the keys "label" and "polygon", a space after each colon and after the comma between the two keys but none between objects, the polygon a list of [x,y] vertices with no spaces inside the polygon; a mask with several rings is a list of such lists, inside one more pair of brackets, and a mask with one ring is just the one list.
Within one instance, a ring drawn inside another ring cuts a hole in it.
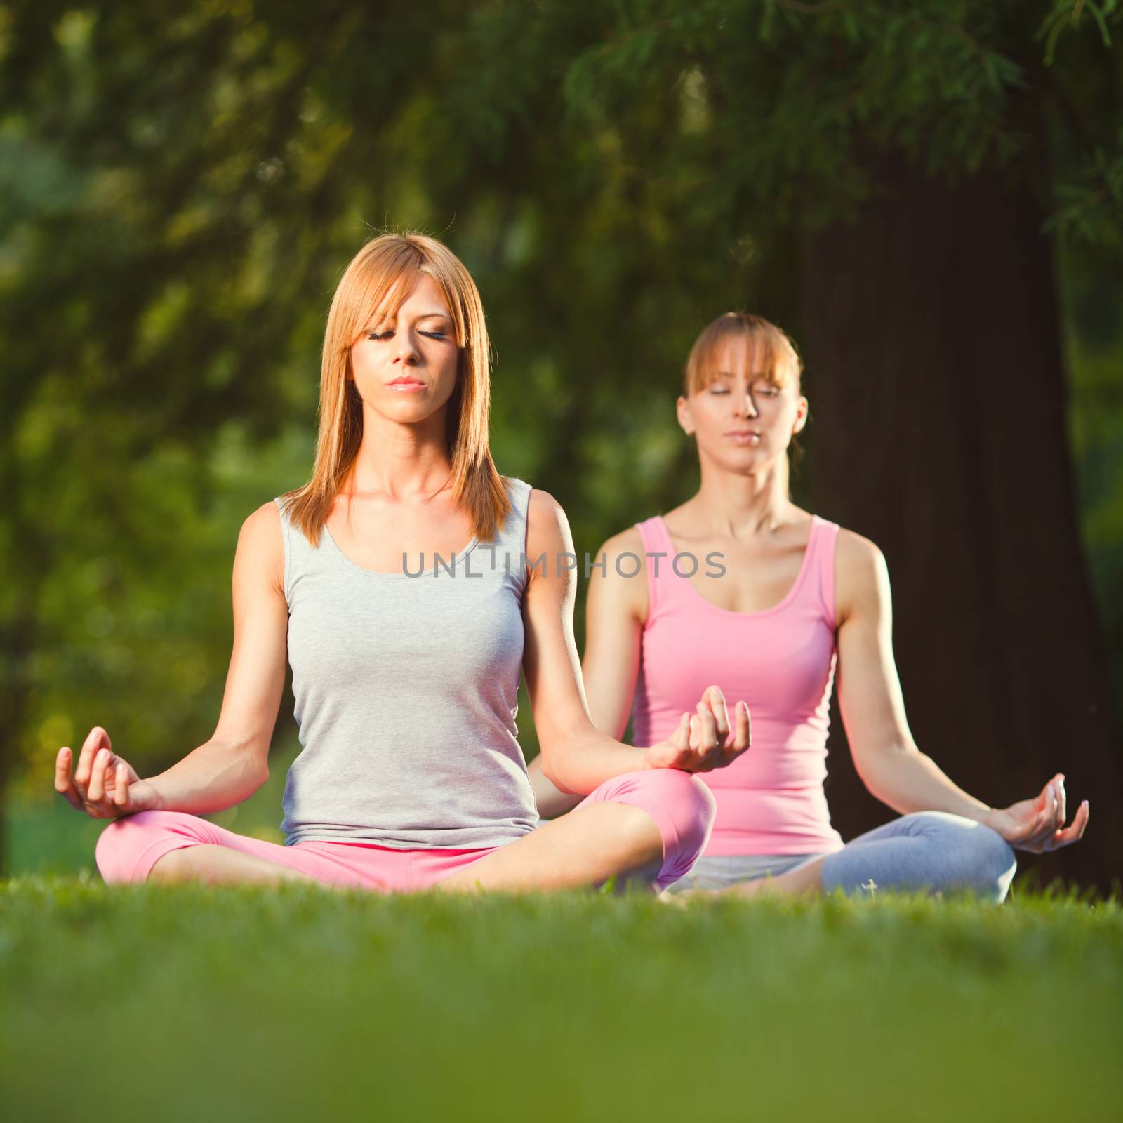
[{"label": "gray-topped woman's bare right-hand arm, overlapping the woman behind", "polygon": [[675,737],[637,749],[602,733],[588,715],[573,637],[577,578],[563,570],[559,555],[574,554],[569,524],[555,500],[530,494],[527,554],[545,554],[545,568],[532,569],[523,597],[526,648],[523,669],[541,747],[542,774],[563,792],[585,795],[606,779],[648,768],[702,772],[720,767],[748,745],[748,714],[738,706],[737,737],[725,748],[729,719],[716,687],[699,702],[697,713],[683,715]]}]

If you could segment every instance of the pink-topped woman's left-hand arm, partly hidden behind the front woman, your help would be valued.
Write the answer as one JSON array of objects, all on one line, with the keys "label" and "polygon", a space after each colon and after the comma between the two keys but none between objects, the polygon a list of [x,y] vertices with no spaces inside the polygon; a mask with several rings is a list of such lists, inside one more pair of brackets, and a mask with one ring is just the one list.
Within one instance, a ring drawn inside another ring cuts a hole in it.
[{"label": "pink-topped woman's left-hand arm, partly hidden behind the front woman", "polygon": [[[634,527],[614,535],[596,554],[596,560],[605,559],[605,567],[604,573],[594,568],[590,577],[581,668],[590,719],[617,740],[628,728],[639,672],[640,632],[647,615],[643,570],[636,577],[622,577],[617,572],[615,559],[624,553],[643,557],[643,541]],[[582,796],[560,792],[544,775],[541,763],[540,756],[530,763],[530,784],[539,813],[553,818],[575,807]]]}]

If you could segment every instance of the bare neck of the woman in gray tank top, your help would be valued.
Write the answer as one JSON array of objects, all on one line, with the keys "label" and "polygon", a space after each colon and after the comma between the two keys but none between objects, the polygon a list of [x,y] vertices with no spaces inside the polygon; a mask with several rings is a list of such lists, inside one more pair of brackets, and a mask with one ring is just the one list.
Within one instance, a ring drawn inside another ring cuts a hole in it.
[{"label": "bare neck of the woman in gray tank top", "polygon": [[418,422],[393,421],[363,409],[363,441],[344,491],[387,499],[429,497],[450,482],[445,410]]}]

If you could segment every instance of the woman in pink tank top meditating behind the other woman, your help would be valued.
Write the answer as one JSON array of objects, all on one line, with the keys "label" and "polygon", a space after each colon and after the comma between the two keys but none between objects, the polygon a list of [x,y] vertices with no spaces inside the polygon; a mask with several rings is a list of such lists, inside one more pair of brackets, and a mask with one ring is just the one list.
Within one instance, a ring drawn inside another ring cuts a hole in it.
[{"label": "woman in pink tank top meditating behind the other woman", "polygon": [[[751,748],[704,777],[713,831],[669,892],[928,887],[1002,901],[1013,848],[1076,841],[1087,801],[1066,828],[1058,774],[1034,798],[992,809],[917,749],[880,551],[788,496],[788,447],[807,419],[792,341],[758,317],[719,317],[691,351],[677,410],[701,487],[604,545],[583,663],[593,721],[620,737],[630,711],[640,746],[665,738],[711,682],[749,704]],[[901,813],[848,844],[823,792],[836,677],[858,773]],[[533,766],[531,780],[541,814],[568,810]]]}]

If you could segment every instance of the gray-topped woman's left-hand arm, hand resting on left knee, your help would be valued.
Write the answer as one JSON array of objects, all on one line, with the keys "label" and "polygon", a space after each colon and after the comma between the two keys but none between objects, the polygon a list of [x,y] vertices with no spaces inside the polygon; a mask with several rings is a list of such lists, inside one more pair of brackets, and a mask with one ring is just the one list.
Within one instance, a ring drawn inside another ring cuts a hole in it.
[{"label": "gray-topped woman's left-hand arm, hand resting on left knee", "polygon": [[287,650],[284,545],[275,503],[243,523],[234,562],[234,650],[213,736],[150,779],[115,756],[109,734],[94,727],[73,778],[70,749],[56,761],[55,788],[80,811],[112,818],[159,809],[207,814],[248,798],[268,777]]}]

